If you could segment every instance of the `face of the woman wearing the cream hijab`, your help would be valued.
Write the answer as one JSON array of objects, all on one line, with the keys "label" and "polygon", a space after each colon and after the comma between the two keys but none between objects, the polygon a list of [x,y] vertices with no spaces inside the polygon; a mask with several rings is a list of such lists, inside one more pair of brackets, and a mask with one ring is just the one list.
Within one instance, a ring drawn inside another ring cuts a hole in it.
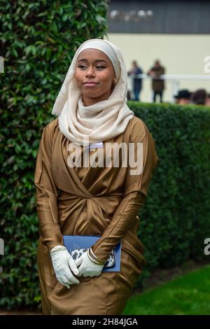
[{"label": "face of the woman wearing the cream hijab", "polygon": [[108,99],[116,78],[109,57],[101,50],[92,48],[85,49],[78,55],[74,76],[85,106]]}]

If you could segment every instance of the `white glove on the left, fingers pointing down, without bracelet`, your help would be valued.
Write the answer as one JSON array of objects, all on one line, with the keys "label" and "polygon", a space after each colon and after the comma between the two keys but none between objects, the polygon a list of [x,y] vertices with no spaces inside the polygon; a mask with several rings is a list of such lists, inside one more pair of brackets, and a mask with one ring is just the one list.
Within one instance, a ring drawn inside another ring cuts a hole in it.
[{"label": "white glove on the left, fingers pointing down, without bracelet", "polygon": [[53,247],[50,250],[50,257],[52,259],[55,276],[59,283],[62,283],[68,289],[71,284],[80,283],[80,281],[78,281],[78,279],[76,279],[71,273],[72,271],[75,275],[78,275],[78,268],[65,246]]}]

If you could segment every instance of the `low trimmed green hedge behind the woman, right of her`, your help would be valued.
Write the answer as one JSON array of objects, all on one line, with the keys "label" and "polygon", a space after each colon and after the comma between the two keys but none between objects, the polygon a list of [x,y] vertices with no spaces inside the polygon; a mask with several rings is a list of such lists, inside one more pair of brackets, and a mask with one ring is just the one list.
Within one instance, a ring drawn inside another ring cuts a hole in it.
[{"label": "low trimmed green hedge behind the woman, right of her", "polygon": [[210,237],[210,109],[204,106],[128,102],[153,134],[160,161],[139,211],[139,239],[147,265],[201,260]]}]

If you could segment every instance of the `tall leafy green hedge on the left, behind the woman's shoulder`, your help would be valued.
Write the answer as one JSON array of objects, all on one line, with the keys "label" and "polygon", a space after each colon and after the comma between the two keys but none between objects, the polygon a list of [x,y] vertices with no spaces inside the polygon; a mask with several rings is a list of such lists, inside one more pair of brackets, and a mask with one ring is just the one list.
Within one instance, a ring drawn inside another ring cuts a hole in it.
[{"label": "tall leafy green hedge on the left, behind the woman's shoulder", "polygon": [[40,302],[34,170],[43,127],[78,46],[102,38],[99,0],[0,2],[0,308]]}]

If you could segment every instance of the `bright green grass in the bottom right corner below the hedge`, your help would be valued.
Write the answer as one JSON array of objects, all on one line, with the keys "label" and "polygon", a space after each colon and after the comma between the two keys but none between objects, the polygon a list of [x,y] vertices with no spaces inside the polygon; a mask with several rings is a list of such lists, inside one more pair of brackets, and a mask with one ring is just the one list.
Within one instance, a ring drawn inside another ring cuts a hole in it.
[{"label": "bright green grass in the bottom right corner below the hedge", "polygon": [[210,265],[130,297],[124,315],[209,315]]}]

